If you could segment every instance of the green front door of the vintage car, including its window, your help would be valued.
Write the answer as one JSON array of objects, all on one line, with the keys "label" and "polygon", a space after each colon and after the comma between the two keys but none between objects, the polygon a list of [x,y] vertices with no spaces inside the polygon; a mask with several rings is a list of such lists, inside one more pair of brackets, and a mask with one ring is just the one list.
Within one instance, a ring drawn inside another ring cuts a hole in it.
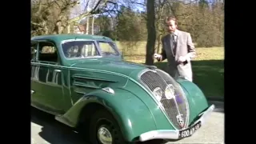
[{"label": "green front door of the vintage car, including its window", "polygon": [[32,66],[32,102],[51,114],[63,114],[63,77],[58,50],[54,43],[49,41],[38,41],[37,50],[37,58]]}]

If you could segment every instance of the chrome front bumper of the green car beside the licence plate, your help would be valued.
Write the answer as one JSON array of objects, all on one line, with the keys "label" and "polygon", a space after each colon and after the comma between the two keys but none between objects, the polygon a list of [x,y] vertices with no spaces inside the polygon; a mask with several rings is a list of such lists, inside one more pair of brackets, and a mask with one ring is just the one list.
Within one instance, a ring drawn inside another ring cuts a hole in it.
[{"label": "chrome front bumper of the green car beside the licence plate", "polygon": [[[186,128],[186,130],[190,129],[191,127],[194,127],[196,124],[198,124],[198,122],[201,122],[201,125],[203,125],[204,122],[206,122],[206,118],[214,110],[214,108],[215,108],[214,105],[209,106],[209,108],[207,110],[205,110],[203,113],[199,114],[199,116],[201,115],[201,117],[198,118],[198,120],[196,122],[194,122],[193,125]],[[194,128],[193,128],[193,130],[194,130]],[[151,131],[141,134],[139,136],[139,141],[145,142],[145,141],[148,141],[151,139],[181,139],[181,137],[180,137],[181,131],[183,131],[183,130],[151,130]],[[190,137],[191,135],[187,134],[186,137]]]}]

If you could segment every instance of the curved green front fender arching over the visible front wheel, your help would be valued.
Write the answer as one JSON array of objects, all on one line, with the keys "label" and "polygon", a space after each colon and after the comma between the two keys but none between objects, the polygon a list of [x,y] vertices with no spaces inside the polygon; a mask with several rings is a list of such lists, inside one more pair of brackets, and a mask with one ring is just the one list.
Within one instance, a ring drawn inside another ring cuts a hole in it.
[{"label": "curved green front fender arching over the visible front wheel", "polygon": [[142,133],[156,129],[154,116],[141,99],[130,91],[114,88],[114,94],[104,90],[95,90],[85,94],[62,116],[56,117],[60,122],[75,127],[78,125],[82,109],[89,104],[100,104],[109,110],[117,120],[122,134],[127,141]]}]

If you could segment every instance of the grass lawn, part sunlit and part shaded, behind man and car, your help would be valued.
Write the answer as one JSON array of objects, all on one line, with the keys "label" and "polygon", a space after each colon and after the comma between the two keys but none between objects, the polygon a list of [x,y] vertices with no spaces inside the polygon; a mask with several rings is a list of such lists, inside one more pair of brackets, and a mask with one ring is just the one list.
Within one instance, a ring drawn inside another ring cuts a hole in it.
[{"label": "grass lawn, part sunlit and part shaded, behind man and car", "polygon": [[[192,61],[194,83],[206,94],[206,97],[224,98],[224,48],[196,48],[197,58]],[[139,50],[145,51],[145,50]],[[124,56],[130,62],[145,62],[145,55]],[[154,62],[155,66],[165,70],[166,63]]]}]

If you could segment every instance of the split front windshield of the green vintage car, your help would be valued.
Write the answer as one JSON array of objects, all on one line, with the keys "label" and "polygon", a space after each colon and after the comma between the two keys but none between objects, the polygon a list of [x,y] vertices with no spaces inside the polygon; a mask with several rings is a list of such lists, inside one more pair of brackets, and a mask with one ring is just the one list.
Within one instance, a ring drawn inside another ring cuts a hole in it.
[{"label": "split front windshield of the green vintage car", "polygon": [[96,41],[100,50],[97,49],[94,41],[74,40],[62,43],[62,50],[66,58],[90,58],[119,56],[118,50],[113,42]]}]

